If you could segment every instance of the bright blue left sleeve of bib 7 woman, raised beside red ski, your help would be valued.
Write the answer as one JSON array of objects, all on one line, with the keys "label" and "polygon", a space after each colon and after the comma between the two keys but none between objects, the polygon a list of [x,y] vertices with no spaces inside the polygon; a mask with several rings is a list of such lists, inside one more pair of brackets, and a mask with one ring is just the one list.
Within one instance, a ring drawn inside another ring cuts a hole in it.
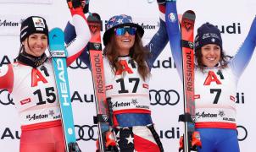
[{"label": "bright blue left sleeve of bib 7 woman, raised beside red ski", "polygon": [[165,23],[172,57],[180,77],[182,77],[181,30],[176,2],[166,2]]}]

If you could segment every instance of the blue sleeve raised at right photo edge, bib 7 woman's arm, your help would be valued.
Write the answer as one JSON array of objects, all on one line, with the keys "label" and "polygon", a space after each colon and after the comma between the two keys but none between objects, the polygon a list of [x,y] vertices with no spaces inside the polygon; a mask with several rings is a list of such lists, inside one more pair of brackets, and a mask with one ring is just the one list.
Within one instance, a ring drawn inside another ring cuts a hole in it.
[{"label": "blue sleeve raised at right photo edge, bib 7 woman's arm", "polygon": [[237,54],[231,58],[229,66],[233,73],[239,78],[242,75],[244,69],[248,66],[256,45],[256,17],[253,19],[253,23],[248,32],[248,35],[243,41],[242,46],[237,51]]}]

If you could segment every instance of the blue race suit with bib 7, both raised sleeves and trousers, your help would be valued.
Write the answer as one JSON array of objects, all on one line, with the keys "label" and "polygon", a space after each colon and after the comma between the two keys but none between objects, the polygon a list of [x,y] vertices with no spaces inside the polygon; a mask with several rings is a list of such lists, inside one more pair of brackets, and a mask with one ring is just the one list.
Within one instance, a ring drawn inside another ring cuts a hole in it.
[{"label": "blue race suit with bib 7, both raised sleeves and trousers", "polygon": [[[177,16],[173,11],[175,3],[167,3],[169,14]],[[168,10],[166,10],[167,12]],[[167,18],[169,18],[167,16]],[[181,34],[178,19],[166,19],[167,31],[175,65],[182,77]],[[214,68],[195,68],[195,106],[196,129],[200,132],[202,149],[200,152],[239,151],[236,123],[236,89],[238,79],[247,67],[256,45],[256,19],[249,33],[232,57],[226,68],[218,64]]]}]

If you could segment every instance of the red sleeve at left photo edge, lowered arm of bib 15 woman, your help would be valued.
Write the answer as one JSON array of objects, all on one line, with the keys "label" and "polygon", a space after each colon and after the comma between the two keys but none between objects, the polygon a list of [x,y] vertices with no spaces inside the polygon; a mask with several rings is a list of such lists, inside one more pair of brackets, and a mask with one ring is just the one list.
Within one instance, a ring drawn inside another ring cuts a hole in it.
[{"label": "red sleeve at left photo edge, lowered arm of bib 15 woman", "polygon": [[0,90],[13,91],[14,87],[14,70],[12,64],[0,67]]}]

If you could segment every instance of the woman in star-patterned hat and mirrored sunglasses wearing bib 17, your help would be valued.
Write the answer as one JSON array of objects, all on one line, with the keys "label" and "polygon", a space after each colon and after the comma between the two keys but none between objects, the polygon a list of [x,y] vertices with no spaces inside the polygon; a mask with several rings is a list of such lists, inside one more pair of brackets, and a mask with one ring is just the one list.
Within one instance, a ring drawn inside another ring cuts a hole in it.
[{"label": "woman in star-patterned hat and mirrored sunglasses wearing bib 17", "polygon": [[[164,3],[159,3],[159,10],[159,31],[145,47],[142,46],[142,26],[134,24],[131,16],[125,14],[110,18],[103,35],[106,96],[112,105],[114,134],[121,152],[164,151],[153,127],[148,90],[153,62],[168,41]],[[72,38],[66,40],[72,41]],[[91,67],[88,52],[83,52],[80,58]]]}]

